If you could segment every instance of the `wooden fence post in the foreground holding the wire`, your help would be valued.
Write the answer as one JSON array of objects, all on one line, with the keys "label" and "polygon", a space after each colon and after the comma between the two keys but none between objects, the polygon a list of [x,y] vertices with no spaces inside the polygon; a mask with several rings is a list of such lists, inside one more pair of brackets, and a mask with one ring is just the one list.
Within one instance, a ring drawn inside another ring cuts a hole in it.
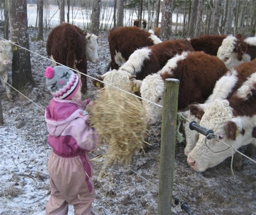
[{"label": "wooden fence post in the foreground holding the wire", "polygon": [[163,94],[158,215],[171,214],[179,80],[166,79]]}]

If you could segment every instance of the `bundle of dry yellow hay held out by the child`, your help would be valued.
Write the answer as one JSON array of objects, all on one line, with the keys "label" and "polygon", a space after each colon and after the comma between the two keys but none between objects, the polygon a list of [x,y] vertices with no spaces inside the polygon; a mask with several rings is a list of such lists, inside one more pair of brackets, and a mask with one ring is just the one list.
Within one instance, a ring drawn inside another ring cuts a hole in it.
[{"label": "bundle of dry yellow hay held out by the child", "polygon": [[138,98],[113,87],[104,88],[88,111],[90,125],[97,129],[100,141],[108,144],[109,162],[130,163],[133,154],[143,149],[148,129]]}]

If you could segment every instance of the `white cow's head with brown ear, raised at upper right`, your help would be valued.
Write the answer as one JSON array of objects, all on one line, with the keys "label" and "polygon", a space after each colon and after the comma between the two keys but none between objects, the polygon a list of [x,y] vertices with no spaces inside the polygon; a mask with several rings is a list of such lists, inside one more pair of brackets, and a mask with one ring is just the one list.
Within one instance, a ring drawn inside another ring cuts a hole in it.
[{"label": "white cow's head with brown ear, raised at upper right", "polygon": [[247,49],[248,46],[244,43],[242,36],[230,35],[222,41],[217,57],[225,63],[228,69],[231,69],[251,60],[251,57],[246,54]]}]

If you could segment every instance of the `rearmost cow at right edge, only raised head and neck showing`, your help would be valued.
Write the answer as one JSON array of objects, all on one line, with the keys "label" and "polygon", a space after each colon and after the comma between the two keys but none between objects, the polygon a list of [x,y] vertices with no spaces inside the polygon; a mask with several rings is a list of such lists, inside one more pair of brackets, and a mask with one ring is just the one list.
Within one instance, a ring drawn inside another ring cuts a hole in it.
[{"label": "rearmost cow at right edge, only raised head and neck showing", "polygon": [[256,37],[244,39],[241,34],[229,35],[218,48],[217,57],[228,69],[256,58]]}]

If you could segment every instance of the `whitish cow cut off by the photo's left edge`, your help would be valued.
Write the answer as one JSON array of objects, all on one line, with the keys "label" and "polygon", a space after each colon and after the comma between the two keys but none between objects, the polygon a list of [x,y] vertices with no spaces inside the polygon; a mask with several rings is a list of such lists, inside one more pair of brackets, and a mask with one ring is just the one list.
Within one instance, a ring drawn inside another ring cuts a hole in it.
[{"label": "whitish cow cut off by the photo's left edge", "polygon": [[12,69],[12,60],[13,51],[11,41],[0,40],[0,77],[9,101],[13,101],[10,87],[7,84],[8,71]]}]

